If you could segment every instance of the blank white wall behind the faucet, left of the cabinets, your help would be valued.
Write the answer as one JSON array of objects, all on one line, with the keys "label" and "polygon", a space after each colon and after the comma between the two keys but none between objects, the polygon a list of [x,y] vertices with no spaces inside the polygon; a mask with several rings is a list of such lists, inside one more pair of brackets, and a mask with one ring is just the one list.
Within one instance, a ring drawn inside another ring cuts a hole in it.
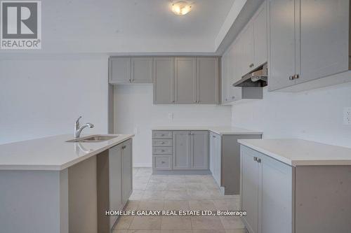
[{"label": "blank white wall behind the faucet, left of the cabinets", "polygon": [[28,55],[0,59],[0,143],[72,134],[107,133],[107,55]]}]

